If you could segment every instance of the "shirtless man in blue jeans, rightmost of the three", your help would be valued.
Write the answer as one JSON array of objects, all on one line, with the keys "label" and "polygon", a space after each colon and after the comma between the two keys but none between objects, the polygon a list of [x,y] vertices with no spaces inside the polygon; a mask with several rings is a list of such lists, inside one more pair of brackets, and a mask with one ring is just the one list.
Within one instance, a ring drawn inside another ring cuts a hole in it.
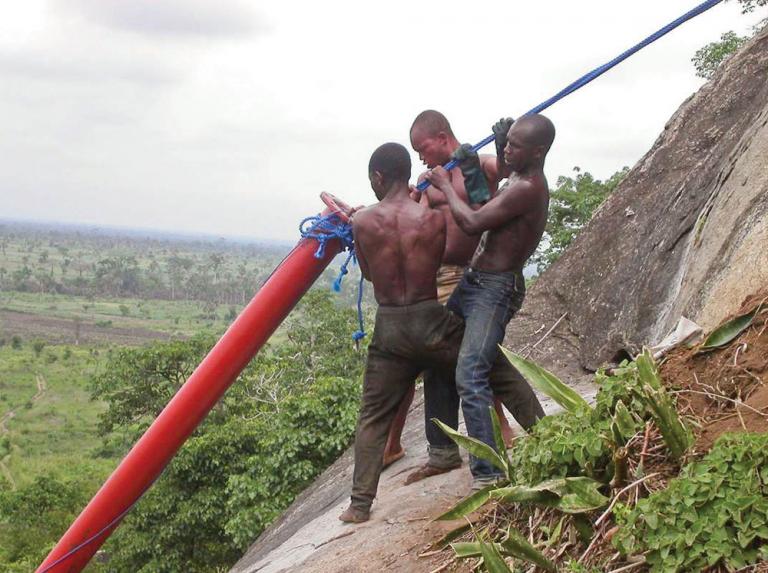
[{"label": "shirtless man in blue jeans, rightmost of the three", "polygon": [[[466,322],[456,385],[467,433],[487,444],[493,444],[488,412],[492,400],[489,374],[507,323],[520,309],[525,296],[523,267],[544,233],[549,187],[543,169],[554,137],[552,122],[542,115],[528,115],[515,122],[504,148],[504,161],[511,176],[477,210],[462,200],[445,169],[435,167],[426,176],[444,193],[459,227],[470,235],[482,234],[471,265],[447,306]],[[473,457],[470,470],[477,485],[499,477],[491,464]]]}]

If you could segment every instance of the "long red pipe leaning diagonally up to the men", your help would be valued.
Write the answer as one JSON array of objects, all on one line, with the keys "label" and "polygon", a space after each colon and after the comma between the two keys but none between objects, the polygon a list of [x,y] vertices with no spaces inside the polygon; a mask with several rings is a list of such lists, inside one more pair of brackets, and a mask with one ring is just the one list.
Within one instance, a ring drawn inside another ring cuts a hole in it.
[{"label": "long red pipe leaning diagonally up to the men", "polygon": [[[323,214],[330,212],[328,209]],[[70,573],[81,571],[88,564],[96,550],[119,525],[120,519],[117,518],[152,485],[197,425],[343,248],[339,239],[332,239],[326,243],[323,257],[318,259],[315,258],[317,247],[318,243],[313,239],[302,239],[296,245],[101,486],[38,567],[37,573]],[[115,523],[110,525],[112,521]],[[96,539],[53,565],[102,529],[105,531]]]}]

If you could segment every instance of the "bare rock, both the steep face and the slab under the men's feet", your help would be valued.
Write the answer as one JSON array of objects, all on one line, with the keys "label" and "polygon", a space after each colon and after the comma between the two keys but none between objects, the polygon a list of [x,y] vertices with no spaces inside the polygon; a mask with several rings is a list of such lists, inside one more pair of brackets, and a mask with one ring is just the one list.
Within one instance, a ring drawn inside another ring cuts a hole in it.
[{"label": "bare rock, both the steep face and the slab under the men's feet", "polygon": [[[539,277],[506,345],[588,393],[591,370],[659,341],[681,315],[710,329],[768,284],[767,211],[768,28],[681,106]],[[418,556],[440,533],[428,518],[467,493],[469,472],[402,486],[403,472],[424,460],[416,404],[408,456],[382,476],[370,522],[336,520],[349,495],[348,452],[233,571],[432,571]]]}]

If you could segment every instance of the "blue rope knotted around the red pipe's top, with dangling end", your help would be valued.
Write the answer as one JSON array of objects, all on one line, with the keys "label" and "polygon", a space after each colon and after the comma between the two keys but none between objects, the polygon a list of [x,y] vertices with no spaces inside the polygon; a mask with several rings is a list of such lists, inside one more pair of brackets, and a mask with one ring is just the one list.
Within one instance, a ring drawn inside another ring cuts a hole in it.
[{"label": "blue rope knotted around the red pipe's top, with dangling end", "polygon": [[[344,275],[349,272],[349,263],[357,263],[357,257],[355,256],[355,243],[352,236],[352,225],[344,223],[338,215],[332,213],[330,215],[321,216],[315,215],[312,217],[306,217],[299,224],[299,233],[301,233],[304,239],[314,239],[319,244],[317,251],[315,251],[315,258],[321,259],[325,255],[325,244],[331,239],[339,239],[343,246],[343,249],[349,251],[347,259],[342,263],[339,270],[339,276],[333,281],[332,289],[334,292],[341,292],[341,281],[344,279]],[[363,275],[360,274],[360,283],[357,287],[357,321],[360,325],[360,329],[356,330],[352,334],[352,340],[355,341],[355,345],[359,345],[360,340],[365,338],[365,325],[363,322]]]}]

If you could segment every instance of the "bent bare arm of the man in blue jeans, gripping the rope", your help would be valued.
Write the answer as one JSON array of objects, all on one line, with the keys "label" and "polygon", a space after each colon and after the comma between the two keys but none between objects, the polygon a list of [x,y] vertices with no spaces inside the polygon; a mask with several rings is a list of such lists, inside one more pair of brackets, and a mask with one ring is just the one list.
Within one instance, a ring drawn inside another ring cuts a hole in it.
[{"label": "bent bare arm of the man in blue jeans, gripping the rope", "polygon": [[539,202],[536,188],[530,182],[519,179],[485,205],[473,210],[458,196],[448,172],[442,167],[435,167],[429,172],[427,180],[445,193],[451,215],[461,230],[468,235],[479,235],[489,229],[501,227],[514,217],[524,215]]}]

